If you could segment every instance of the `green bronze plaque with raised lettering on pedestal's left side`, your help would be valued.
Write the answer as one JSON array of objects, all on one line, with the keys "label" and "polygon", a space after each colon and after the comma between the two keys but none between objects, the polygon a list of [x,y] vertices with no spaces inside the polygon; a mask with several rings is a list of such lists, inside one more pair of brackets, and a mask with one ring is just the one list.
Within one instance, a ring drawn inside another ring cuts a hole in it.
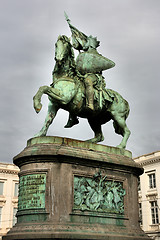
[{"label": "green bronze plaque with raised lettering on pedestal's left side", "polygon": [[19,180],[18,210],[45,208],[46,174],[29,174]]}]

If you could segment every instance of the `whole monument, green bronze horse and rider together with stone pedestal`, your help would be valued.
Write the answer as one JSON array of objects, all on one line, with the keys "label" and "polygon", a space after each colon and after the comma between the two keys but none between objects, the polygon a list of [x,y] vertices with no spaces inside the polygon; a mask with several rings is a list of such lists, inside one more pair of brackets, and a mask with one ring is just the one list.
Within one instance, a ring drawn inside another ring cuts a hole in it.
[{"label": "whole monument, green bronze horse and rider together with stone pedestal", "polygon": [[[14,157],[20,168],[17,223],[3,240],[18,239],[149,239],[138,222],[137,179],[143,169],[125,150],[130,130],[128,102],[106,89],[102,75],[114,62],[98,53],[99,41],[75,28],[68,16],[72,44],[59,36],[51,86],[34,96],[49,97],[42,129]],[[74,49],[79,51],[75,61]],[[46,136],[58,109],[69,112],[65,127],[87,118],[94,137],[80,141]],[[101,125],[113,120],[122,141],[117,147],[96,144],[104,139]]]}]

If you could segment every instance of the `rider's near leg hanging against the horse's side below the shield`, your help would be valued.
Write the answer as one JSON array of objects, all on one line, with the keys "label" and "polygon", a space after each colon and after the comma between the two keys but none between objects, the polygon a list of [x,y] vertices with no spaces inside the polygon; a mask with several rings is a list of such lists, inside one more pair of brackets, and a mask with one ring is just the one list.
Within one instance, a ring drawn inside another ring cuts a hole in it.
[{"label": "rider's near leg hanging against the horse's side below the shield", "polygon": [[93,82],[91,78],[85,79],[85,86],[86,86],[86,107],[89,110],[94,110],[93,99],[94,99],[94,90],[93,90]]}]

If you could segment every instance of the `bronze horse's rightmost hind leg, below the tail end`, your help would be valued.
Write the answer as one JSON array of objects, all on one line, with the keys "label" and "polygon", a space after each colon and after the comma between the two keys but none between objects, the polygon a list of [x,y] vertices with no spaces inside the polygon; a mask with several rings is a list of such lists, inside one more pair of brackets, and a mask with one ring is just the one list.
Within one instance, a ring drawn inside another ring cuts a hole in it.
[{"label": "bronze horse's rightmost hind leg, below the tail end", "polygon": [[126,125],[125,118],[121,117],[121,116],[115,117],[113,126],[115,128],[115,132],[123,136],[121,143],[117,147],[125,148],[128,138],[131,134],[130,130],[128,129],[128,127]]}]

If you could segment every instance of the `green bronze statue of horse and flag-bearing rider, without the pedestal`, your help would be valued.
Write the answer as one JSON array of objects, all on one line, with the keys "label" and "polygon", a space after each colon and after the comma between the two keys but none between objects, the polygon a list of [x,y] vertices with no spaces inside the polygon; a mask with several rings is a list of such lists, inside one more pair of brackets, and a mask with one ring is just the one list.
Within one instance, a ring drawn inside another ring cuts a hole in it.
[{"label": "green bronze statue of horse and flag-bearing rider, without the pedestal", "polygon": [[[102,71],[114,67],[115,63],[98,53],[100,42],[97,38],[80,32],[66,13],[65,17],[71,29],[72,43],[65,35],[58,37],[53,82],[50,86],[40,87],[33,98],[37,113],[42,108],[42,95],[47,94],[49,98],[44,125],[35,137],[46,136],[57,111],[62,108],[69,112],[66,128],[78,124],[78,117],[87,118],[94,132],[94,138],[87,140],[91,143],[104,140],[101,126],[112,119],[115,132],[123,137],[117,147],[125,148],[130,136],[126,125],[129,104],[119,93],[106,89],[102,75]],[[79,51],[76,60],[73,49]]]}]

